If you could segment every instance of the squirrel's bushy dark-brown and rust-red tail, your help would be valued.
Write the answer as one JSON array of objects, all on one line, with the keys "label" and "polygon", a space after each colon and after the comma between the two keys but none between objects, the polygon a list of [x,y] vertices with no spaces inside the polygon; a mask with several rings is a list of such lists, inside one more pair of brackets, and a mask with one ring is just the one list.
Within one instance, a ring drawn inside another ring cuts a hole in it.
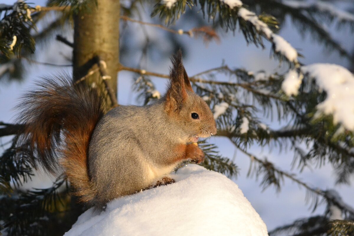
[{"label": "squirrel's bushy dark-brown and rust-red tail", "polygon": [[25,131],[18,145],[28,145],[33,165],[53,173],[58,163],[82,202],[95,197],[87,155],[93,129],[104,114],[104,99],[84,84],[73,85],[65,75],[44,78],[26,93],[18,108]]}]

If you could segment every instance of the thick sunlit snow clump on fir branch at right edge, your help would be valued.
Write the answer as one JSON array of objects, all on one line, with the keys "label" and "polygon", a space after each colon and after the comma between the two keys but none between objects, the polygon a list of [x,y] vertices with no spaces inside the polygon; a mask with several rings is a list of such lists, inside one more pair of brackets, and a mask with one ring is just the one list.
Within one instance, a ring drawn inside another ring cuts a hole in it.
[{"label": "thick sunlit snow clump on fir branch at right edge", "polygon": [[319,90],[327,93],[326,99],[317,105],[317,113],[332,115],[333,122],[354,131],[354,75],[346,68],[335,64],[311,64],[301,68],[313,77]]}]

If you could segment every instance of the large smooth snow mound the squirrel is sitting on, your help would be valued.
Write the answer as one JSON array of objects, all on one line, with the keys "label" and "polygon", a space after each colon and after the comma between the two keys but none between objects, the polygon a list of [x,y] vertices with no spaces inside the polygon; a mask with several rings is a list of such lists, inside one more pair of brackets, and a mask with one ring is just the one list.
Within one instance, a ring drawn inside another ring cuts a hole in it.
[{"label": "large smooth snow mound the squirrel is sitting on", "polygon": [[65,236],[268,235],[259,214],[224,175],[189,164],[176,183],[117,198],[83,213]]}]

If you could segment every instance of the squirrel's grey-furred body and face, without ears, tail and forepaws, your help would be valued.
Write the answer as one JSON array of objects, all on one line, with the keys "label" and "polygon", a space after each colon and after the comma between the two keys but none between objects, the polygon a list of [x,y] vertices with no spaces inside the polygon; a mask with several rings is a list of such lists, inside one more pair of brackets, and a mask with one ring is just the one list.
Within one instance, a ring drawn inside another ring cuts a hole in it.
[{"label": "squirrel's grey-furred body and face, without ears, tail and forepaws", "polygon": [[[204,122],[190,117],[199,109],[206,111]],[[186,115],[188,119],[184,119]],[[173,162],[173,147],[189,143],[196,134],[207,137],[216,133],[209,107],[192,92],[178,116],[182,120],[171,119],[165,112],[165,99],[161,99],[146,107],[114,108],[99,121],[89,149],[96,203],[151,186],[180,163]]]}]

